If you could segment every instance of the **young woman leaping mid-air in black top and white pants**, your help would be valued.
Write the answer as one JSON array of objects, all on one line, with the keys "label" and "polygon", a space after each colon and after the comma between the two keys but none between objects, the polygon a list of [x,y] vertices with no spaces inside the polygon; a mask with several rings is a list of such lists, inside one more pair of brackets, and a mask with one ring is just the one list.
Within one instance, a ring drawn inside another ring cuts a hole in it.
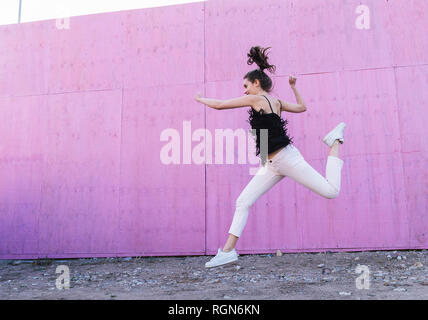
[{"label": "young woman leaping mid-air in black top and white pants", "polygon": [[[249,123],[255,132],[256,155],[260,154],[260,149],[267,149],[267,159],[266,153],[260,156],[263,166],[236,199],[236,211],[223,250],[218,249],[217,255],[205,264],[207,268],[238,260],[235,246],[247,222],[250,207],[284,177],[290,177],[328,199],[336,198],[340,191],[343,160],[339,159],[339,143],[344,142],[345,123],[341,122],[323,139],[330,147],[324,178],[305,161],[293,145],[292,138],[287,135],[287,120],[281,118],[281,111],[300,113],[306,111],[306,105],[296,89],[296,78],[292,76],[289,83],[297,104],[275,99],[269,94],[272,80],[263,70],[268,69],[273,73],[275,66],[268,63],[267,49],[256,46],[248,53],[247,63],[250,65],[255,62],[259,69],[244,76],[245,96],[230,100],[207,99],[200,94],[195,97],[196,101],[216,110],[251,107],[248,111]],[[262,133],[266,130],[261,129],[267,129],[267,141],[263,138],[266,135]]]}]

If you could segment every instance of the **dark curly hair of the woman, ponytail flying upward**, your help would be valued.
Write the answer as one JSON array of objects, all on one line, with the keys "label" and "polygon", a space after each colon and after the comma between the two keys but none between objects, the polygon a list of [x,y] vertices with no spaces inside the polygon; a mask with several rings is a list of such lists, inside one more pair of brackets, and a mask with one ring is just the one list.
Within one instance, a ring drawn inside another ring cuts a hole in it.
[{"label": "dark curly hair of the woman, ponytail flying upward", "polygon": [[250,49],[250,52],[247,54],[248,60],[247,64],[251,65],[256,63],[259,66],[259,69],[248,72],[243,79],[248,79],[251,83],[254,83],[256,79],[260,81],[260,86],[266,92],[272,90],[272,79],[263,71],[268,69],[271,73],[275,73],[276,67],[268,63],[268,56],[266,51],[271,47],[262,48],[260,46],[255,46]]}]

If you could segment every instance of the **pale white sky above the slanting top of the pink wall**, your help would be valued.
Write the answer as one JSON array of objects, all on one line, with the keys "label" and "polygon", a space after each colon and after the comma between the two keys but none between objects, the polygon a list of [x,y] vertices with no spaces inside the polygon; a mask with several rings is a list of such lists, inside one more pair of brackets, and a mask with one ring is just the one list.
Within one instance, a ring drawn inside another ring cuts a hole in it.
[{"label": "pale white sky above the slanting top of the pink wall", "polygon": [[[21,22],[206,0],[21,0]],[[18,23],[19,0],[0,0],[0,25]]]}]

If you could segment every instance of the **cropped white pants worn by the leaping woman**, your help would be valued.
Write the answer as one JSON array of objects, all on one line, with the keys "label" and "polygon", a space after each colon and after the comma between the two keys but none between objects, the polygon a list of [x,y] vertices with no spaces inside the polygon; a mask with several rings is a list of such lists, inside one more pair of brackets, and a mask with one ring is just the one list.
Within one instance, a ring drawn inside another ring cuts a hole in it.
[{"label": "cropped white pants worn by the leaping woman", "polygon": [[342,159],[328,156],[324,178],[306,162],[294,145],[289,144],[272,159],[267,159],[266,164],[257,171],[236,199],[236,211],[229,233],[240,237],[253,203],[286,176],[320,196],[336,198],[340,191],[342,167]]}]

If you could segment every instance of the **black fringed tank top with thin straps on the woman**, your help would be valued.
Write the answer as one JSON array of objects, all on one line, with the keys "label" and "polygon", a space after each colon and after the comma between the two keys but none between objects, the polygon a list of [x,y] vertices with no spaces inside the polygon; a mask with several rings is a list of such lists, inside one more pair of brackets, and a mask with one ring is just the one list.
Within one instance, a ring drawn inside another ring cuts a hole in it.
[{"label": "black fringed tank top with thin straps on the woman", "polygon": [[[266,96],[263,95],[266,98]],[[269,107],[272,110],[272,113],[266,113],[263,109],[256,111],[253,108],[248,111],[249,118],[247,122],[250,123],[251,128],[254,129],[251,131],[255,137],[256,142],[256,156],[260,154],[260,129],[267,129],[268,137],[268,151],[267,154],[272,153],[282,147],[286,147],[289,144],[293,143],[293,138],[290,138],[287,135],[287,124],[288,121],[284,120],[276,114],[268,98],[266,100],[269,103]],[[279,101],[281,104],[281,101]],[[282,108],[282,104],[281,104]],[[267,154],[262,154],[260,156],[262,164],[266,163]]]}]

